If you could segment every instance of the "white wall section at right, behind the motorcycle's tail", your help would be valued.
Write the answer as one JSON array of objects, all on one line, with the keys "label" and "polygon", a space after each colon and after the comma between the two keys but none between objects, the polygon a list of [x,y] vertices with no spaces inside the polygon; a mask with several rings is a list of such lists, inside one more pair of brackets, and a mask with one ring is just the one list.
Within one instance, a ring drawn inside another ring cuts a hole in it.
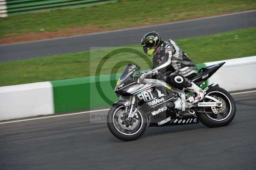
[{"label": "white wall section at right, behind the motorcycle's tail", "polygon": [[256,56],[205,64],[210,66],[221,62],[226,63],[208,79],[208,84],[217,83],[230,92],[256,88]]}]

